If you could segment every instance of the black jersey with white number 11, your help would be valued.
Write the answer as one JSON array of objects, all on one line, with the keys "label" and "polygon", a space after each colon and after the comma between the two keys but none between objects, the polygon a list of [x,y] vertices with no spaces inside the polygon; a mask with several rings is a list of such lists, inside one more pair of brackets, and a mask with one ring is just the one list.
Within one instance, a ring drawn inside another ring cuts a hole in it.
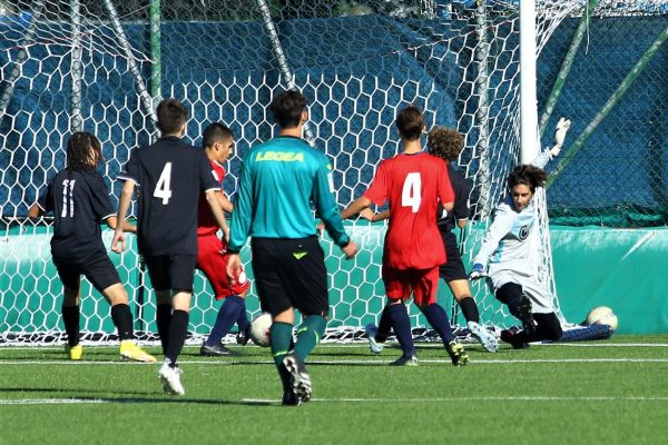
[{"label": "black jersey with white number 11", "polygon": [[107,251],[100,222],[116,211],[102,177],[94,168],[60,171],[37,201],[45,211],[53,211],[51,254],[72,263],[84,263],[97,251]]}]

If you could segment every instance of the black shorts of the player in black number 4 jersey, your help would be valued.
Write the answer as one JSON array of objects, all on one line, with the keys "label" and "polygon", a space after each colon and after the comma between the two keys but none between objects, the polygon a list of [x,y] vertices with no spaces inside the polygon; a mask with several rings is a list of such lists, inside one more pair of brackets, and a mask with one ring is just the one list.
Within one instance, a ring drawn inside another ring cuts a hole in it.
[{"label": "black shorts of the player in black number 4 jersey", "polygon": [[144,263],[156,291],[193,291],[196,255],[145,255]]}]

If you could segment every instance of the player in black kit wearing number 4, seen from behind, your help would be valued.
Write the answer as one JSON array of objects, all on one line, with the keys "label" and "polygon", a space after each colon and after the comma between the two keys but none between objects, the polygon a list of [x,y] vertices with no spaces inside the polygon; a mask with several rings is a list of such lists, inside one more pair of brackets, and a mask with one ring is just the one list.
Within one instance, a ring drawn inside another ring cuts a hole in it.
[{"label": "player in black kit wearing number 4, seen from behind", "polygon": [[[125,219],[135,187],[139,187],[137,247],[144,256],[157,295],[156,323],[165,354],[158,370],[167,394],[184,395],[181,369],[176,364],[186,335],[197,259],[197,204],[200,190],[216,222],[227,229],[215,195],[220,189],[204,151],[181,140],[188,112],[175,99],[165,99],[156,109],[161,137],[148,147],[135,148],[119,179],[125,179],[118,206]],[[125,235],[117,229],[115,251],[125,249]]]}]

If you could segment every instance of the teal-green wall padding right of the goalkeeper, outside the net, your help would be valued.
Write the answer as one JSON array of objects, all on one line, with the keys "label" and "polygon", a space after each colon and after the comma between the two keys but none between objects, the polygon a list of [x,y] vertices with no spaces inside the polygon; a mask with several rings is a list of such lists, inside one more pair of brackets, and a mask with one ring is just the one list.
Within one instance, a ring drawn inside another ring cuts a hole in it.
[{"label": "teal-green wall padding right of the goalkeeper, outside the net", "polygon": [[569,322],[609,306],[620,334],[668,333],[668,228],[551,227],[559,303]]}]

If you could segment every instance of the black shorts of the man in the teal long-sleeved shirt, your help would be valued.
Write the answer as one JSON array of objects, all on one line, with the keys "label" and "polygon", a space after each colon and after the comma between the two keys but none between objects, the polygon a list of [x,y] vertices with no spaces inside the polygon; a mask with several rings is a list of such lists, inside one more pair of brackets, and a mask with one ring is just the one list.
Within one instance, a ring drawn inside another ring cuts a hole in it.
[{"label": "black shorts of the man in the teal long-sleeved shirt", "polygon": [[303,315],[327,315],[327,270],[317,237],[253,238],[253,276],[264,312],[295,307]]}]

